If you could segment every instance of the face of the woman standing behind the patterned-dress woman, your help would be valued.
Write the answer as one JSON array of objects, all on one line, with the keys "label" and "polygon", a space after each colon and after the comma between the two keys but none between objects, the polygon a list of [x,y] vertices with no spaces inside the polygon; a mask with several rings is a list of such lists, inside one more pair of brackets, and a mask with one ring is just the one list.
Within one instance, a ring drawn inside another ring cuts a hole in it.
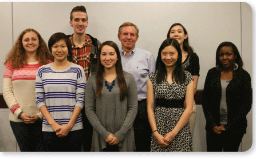
[{"label": "face of the woman standing behind the patterned-dress woman", "polygon": [[187,34],[184,33],[183,27],[180,25],[176,25],[172,27],[170,32],[170,38],[176,39],[179,42],[179,45],[183,45],[184,39],[188,37]]}]

